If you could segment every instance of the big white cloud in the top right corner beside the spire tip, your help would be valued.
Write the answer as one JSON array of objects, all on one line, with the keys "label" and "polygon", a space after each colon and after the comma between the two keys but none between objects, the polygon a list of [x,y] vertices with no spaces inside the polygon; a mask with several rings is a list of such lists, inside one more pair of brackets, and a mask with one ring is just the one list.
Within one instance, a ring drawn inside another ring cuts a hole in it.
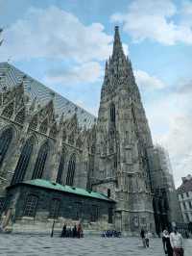
[{"label": "big white cloud in the top right corner beside the spire tip", "polygon": [[[189,6],[188,2],[186,5]],[[124,31],[135,41],[149,38],[163,44],[171,45],[179,41],[191,44],[191,19],[189,22],[185,18],[188,10],[183,4],[183,11],[179,13],[171,0],[134,0],[127,13],[114,13],[110,19],[123,23]],[[180,23],[175,22],[175,14],[180,14]]]}]

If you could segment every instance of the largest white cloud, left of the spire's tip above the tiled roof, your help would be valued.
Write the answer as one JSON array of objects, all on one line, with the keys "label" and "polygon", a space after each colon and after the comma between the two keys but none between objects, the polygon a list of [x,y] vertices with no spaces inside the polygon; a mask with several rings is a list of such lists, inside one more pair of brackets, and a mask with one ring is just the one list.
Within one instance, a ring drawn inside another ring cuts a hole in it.
[{"label": "largest white cloud, left of the spire's tip above the tiled roof", "polygon": [[13,61],[31,58],[73,59],[76,62],[101,61],[111,52],[112,37],[101,23],[84,26],[72,13],[58,7],[31,8],[5,33],[0,59]]}]

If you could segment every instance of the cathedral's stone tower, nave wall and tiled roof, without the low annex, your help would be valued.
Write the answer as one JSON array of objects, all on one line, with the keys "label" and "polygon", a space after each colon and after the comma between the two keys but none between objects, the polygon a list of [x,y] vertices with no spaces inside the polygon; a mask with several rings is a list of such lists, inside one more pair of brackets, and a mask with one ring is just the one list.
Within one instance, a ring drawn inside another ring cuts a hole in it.
[{"label": "cathedral's stone tower, nave wall and tiled roof, without the low annex", "polygon": [[7,186],[46,179],[108,193],[117,230],[155,231],[153,141],[118,27],[97,119],[10,64],[0,64],[0,85],[2,202]]}]

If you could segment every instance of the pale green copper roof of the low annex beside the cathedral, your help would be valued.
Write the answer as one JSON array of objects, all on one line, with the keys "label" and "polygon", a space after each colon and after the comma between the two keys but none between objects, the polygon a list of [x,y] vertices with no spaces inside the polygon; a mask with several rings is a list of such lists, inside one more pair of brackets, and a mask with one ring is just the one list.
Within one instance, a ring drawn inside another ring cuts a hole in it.
[{"label": "pale green copper roof of the low annex beside the cathedral", "polygon": [[[112,199],[108,198],[107,195],[101,192],[88,192],[81,188],[74,188],[67,185],[60,185],[59,183],[54,183],[48,180],[36,179],[36,180],[29,180],[24,181],[22,184],[28,184],[36,187],[46,188],[50,190],[60,191],[60,192],[70,192],[75,193],[83,196],[93,197],[101,200],[113,201]],[[114,201],[113,201],[114,202]]]}]

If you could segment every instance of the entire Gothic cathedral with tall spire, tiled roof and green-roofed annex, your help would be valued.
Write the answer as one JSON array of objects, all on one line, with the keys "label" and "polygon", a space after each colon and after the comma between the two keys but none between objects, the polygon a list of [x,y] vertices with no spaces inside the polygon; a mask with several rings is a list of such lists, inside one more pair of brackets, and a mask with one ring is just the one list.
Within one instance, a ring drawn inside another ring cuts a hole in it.
[{"label": "entire Gothic cathedral with tall spire, tiled roof and green-roofed annex", "polygon": [[180,219],[170,218],[153,160],[148,120],[117,26],[98,117],[12,64],[0,64],[3,229],[36,233],[50,230],[54,220],[59,230],[79,221],[87,232],[158,233]]}]

